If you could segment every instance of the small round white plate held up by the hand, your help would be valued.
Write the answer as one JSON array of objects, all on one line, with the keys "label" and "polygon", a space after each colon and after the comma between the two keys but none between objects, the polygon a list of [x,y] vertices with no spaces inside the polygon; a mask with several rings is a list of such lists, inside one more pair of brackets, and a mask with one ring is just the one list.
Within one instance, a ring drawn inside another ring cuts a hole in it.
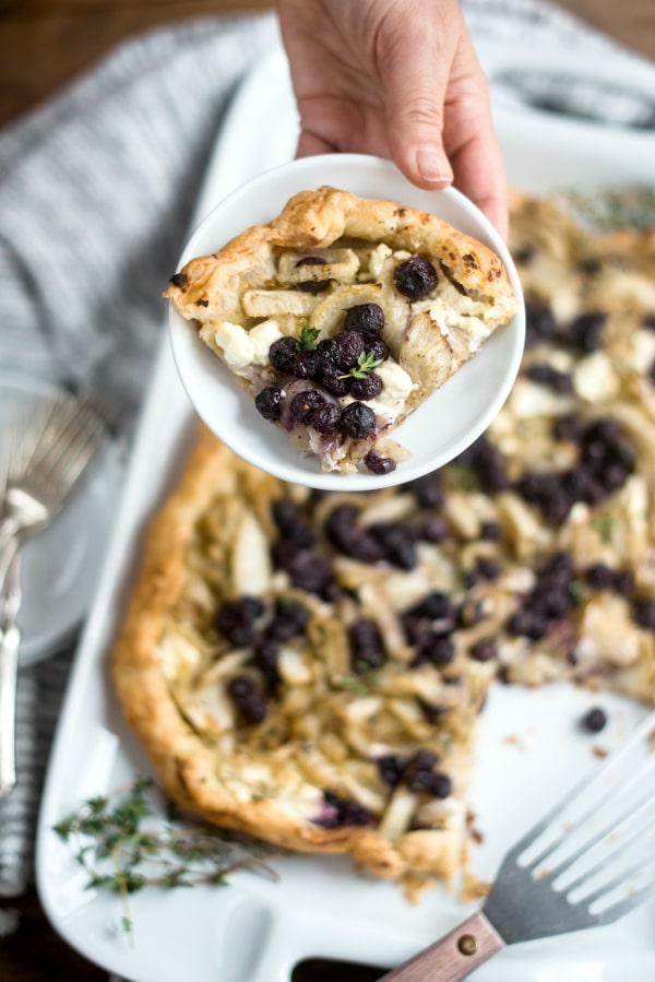
[{"label": "small round white plate held up by the hand", "polygon": [[[389,161],[359,154],[306,157],[260,175],[221,202],[188,242],[180,268],[195,256],[216,252],[245,228],[269,222],[299,190],[331,185],[369,198],[398,201],[431,212],[493,249],[521,300],[521,284],[500,236],[458,191],[424,191]],[[318,458],[302,455],[286,434],[255,412],[252,399],[216,355],[198,339],[193,326],[171,308],[172,353],[182,384],[199,415],[216,436],[270,474],[310,487],[367,490],[401,484],[442,466],[462,453],[491,423],[519,371],[525,315],[497,330],[480,353],[437,390],[397,430],[412,457],[391,474],[323,473]]]}]

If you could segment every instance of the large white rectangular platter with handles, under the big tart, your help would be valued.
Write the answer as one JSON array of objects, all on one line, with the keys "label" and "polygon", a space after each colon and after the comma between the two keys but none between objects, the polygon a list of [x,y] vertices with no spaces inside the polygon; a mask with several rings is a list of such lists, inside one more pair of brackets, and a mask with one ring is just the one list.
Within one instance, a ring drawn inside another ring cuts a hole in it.
[{"label": "large white rectangular platter with handles, under the big tart", "polygon": [[[510,108],[498,110],[497,125],[510,182],[527,191],[653,184],[653,133]],[[276,51],[236,99],[195,218],[249,177],[290,159],[297,131],[287,66]],[[193,431],[194,416],[166,339],[51,756],[37,836],[41,901],[73,947],[132,982],[289,982],[294,966],[310,957],[391,967],[454,926],[471,907],[439,888],[412,906],[397,887],[358,876],[347,861],[289,857],[275,864],[278,882],[243,873],[224,889],[146,889],[135,895],[130,900],[130,945],[120,930],[120,898],[86,889],[71,848],[52,831],[82,801],[151,772],[114,697],[107,651],[139,564],[144,523],[177,480]],[[479,875],[491,877],[512,841],[595,766],[594,747],[611,749],[644,714],[626,700],[604,696],[610,726],[592,737],[582,733],[577,721],[593,699],[570,687],[499,687],[493,693],[483,719],[472,788],[476,825],[484,836],[474,855]],[[612,927],[516,946],[475,978],[651,982],[654,914],[650,904]]]}]

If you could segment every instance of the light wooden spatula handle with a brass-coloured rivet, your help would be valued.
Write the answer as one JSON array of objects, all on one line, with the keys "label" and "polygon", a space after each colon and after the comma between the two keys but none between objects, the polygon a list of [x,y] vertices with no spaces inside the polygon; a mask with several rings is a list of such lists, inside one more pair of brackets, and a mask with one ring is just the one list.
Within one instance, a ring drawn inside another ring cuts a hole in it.
[{"label": "light wooden spatula handle with a brass-coloured rivet", "polygon": [[460,982],[504,947],[500,934],[478,911],[380,982]]}]

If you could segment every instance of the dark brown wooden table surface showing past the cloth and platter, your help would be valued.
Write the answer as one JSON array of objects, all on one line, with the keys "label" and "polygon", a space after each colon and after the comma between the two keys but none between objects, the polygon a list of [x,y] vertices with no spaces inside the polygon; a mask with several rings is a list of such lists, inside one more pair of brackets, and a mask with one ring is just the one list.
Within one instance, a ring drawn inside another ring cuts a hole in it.
[{"label": "dark brown wooden table surface showing past the cloth and platter", "polygon": [[[655,60],[655,0],[559,0],[559,5]],[[138,32],[194,15],[271,7],[266,0],[0,0],[0,126]],[[105,971],[49,927],[34,890],[0,900],[0,914],[2,909],[20,921],[14,933],[0,933],[0,982],[107,982]],[[294,982],[372,982],[379,974],[315,965],[297,972]]]}]

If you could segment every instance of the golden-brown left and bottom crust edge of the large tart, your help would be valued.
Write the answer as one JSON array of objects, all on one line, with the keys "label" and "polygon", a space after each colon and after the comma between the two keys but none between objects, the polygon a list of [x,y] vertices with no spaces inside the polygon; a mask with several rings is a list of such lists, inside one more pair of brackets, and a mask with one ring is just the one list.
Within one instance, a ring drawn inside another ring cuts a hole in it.
[{"label": "golden-brown left and bottom crust edge of the large tart", "polygon": [[396,879],[426,873],[446,880],[464,862],[461,830],[444,830],[440,848],[431,842],[421,856],[412,837],[393,845],[368,828],[324,829],[295,821],[269,801],[235,803],[221,790],[214,755],[184,722],[169,693],[157,658],[166,612],[180,595],[183,554],[193,523],[216,489],[216,476],[234,455],[204,427],[182,481],[151,522],[142,568],[110,662],[126,720],[151,758],[167,795],[219,826],[295,852],[349,853],[376,876]]}]

